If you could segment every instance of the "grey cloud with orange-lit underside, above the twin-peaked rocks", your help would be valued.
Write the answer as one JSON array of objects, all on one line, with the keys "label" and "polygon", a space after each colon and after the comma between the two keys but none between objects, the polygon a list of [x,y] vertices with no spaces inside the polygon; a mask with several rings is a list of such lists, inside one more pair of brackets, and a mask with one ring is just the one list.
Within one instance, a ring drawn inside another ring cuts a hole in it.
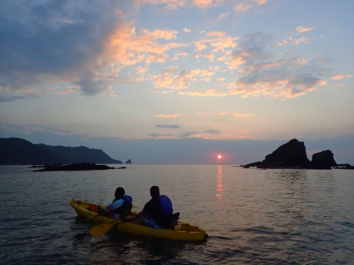
[{"label": "grey cloud with orange-lit underside, above the twin-peaked rocks", "polygon": [[230,69],[239,69],[238,72],[243,74],[226,85],[229,95],[242,98],[263,95],[284,100],[313,91],[326,83],[322,80],[324,76],[331,75],[331,69],[322,66],[326,60],[279,59],[280,55],[273,52],[272,45],[272,36],[249,34],[236,51],[221,58]]}]

